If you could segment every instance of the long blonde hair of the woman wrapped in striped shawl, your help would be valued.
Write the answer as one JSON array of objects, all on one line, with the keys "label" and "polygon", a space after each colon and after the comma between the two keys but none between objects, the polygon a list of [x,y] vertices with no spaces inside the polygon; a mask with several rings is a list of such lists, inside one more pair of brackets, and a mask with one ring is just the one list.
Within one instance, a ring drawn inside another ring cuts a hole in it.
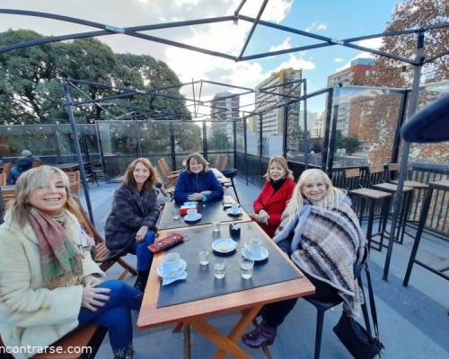
[{"label": "long blonde hair of the woman wrapped in striped shawl", "polygon": [[293,217],[303,207],[304,186],[311,181],[318,180],[322,181],[326,186],[326,194],[321,199],[321,201],[315,203],[314,206],[321,206],[326,209],[331,209],[338,206],[339,202],[341,202],[347,195],[347,191],[345,189],[333,187],[332,181],[325,172],[318,169],[305,170],[303,173],[301,173],[298,183],[295,186],[295,190],[293,191],[292,198],[286,206],[285,212],[288,217]]}]

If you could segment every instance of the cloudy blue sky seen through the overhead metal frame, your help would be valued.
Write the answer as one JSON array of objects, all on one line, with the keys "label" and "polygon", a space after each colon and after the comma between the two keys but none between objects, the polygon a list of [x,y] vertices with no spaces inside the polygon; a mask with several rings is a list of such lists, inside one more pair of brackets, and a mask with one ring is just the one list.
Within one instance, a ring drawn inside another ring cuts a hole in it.
[{"label": "cloudy blue sky seen through the overhead metal frame", "polygon": [[[382,32],[391,20],[398,0],[269,0],[262,20],[276,22],[295,29],[310,31],[332,39],[345,39]],[[0,8],[57,13],[106,23],[118,27],[137,26],[162,22],[177,22],[207,17],[231,15],[240,0],[0,0]],[[256,17],[262,0],[248,0],[241,13]],[[42,35],[62,35],[94,29],[68,22],[40,19],[29,16],[0,14],[0,31],[29,29]],[[249,22],[224,22],[196,25],[145,33],[225,52],[236,56],[251,29]],[[118,53],[145,54],[163,60],[180,77],[183,83],[194,80],[211,80],[254,88],[269,74],[281,68],[303,69],[307,91],[326,86],[327,77],[345,67],[356,57],[369,57],[358,50],[333,46],[301,53],[235,63],[187,49],[174,48],[145,39],[125,35],[97,38]],[[381,39],[365,40],[360,45],[379,48]],[[252,35],[244,55],[291,48],[315,43],[316,40],[300,35],[269,29],[259,25]],[[202,99],[210,99],[224,87],[207,86]],[[191,86],[181,91],[192,97]],[[199,89],[196,89],[198,95]],[[252,95],[253,96],[253,95]],[[242,100],[253,101],[252,99]],[[321,112],[325,96],[311,101],[309,110]]]}]

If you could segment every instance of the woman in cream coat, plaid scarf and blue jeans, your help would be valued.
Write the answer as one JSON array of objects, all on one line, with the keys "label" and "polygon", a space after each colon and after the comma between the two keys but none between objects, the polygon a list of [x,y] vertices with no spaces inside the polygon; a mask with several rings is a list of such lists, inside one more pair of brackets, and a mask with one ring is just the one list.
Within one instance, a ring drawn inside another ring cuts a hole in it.
[{"label": "woman in cream coat, plaid scarf and blue jeans", "polygon": [[114,358],[132,357],[130,311],[139,311],[143,293],[103,282],[91,257],[94,242],[77,218],[63,171],[41,166],[17,180],[0,226],[0,336],[5,346],[27,348],[16,358],[86,323],[109,329]]}]

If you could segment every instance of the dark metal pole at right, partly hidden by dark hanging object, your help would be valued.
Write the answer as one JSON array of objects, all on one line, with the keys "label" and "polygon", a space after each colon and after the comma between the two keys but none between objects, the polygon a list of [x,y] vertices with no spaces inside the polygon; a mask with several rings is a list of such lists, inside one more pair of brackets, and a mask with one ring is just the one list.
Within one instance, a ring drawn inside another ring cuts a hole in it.
[{"label": "dark metal pole at right, partly hidden by dark hanging object", "polygon": [[[423,33],[418,34],[416,61],[419,63],[419,65],[415,66],[415,74],[413,75],[413,86],[411,88],[410,102],[409,102],[409,117],[413,116],[413,114],[416,112],[416,109],[417,109],[419,81],[421,79],[421,67],[424,62],[424,34]],[[388,240],[387,256],[385,258],[385,265],[383,266],[382,279],[385,281],[388,279],[390,262],[392,261],[392,247],[393,247],[393,243],[394,243],[394,236],[396,233],[396,230],[395,230],[396,223],[398,220],[399,213],[401,211],[402,191],[404,188],[404,180],[405,180],[405,175],[407,172],[407,165],[408,165],[408,161],[409,161],[409,150],[410,150],[409,142],[404,141],[403,146],[402,146],[401,169],[399,171],[399,178],[398,178],[398,190],[396,192],[396,197],[394,198],[394,203],[393,203],[392,225],[390,227],[391,230],[390,230],[390,234],[389,234],[390,237]]]}]

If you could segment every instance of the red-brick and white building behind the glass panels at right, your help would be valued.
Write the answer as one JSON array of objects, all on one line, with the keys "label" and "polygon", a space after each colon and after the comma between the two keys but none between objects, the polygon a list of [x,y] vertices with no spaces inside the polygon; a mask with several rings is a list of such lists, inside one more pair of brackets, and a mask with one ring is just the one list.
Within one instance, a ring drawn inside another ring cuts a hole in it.
[{"label": "red-brick and white building behind the glass panels at right", "polygon": [[[328,86],[339,85],[364,85],[365,75],[373,71],[373,58],[356,58],[351,65],[338,73],[328,77]],[[357,137],[360,114],[351,110],[351,96],[339,98],[339,113],[337,129],[343,136]]]}]

